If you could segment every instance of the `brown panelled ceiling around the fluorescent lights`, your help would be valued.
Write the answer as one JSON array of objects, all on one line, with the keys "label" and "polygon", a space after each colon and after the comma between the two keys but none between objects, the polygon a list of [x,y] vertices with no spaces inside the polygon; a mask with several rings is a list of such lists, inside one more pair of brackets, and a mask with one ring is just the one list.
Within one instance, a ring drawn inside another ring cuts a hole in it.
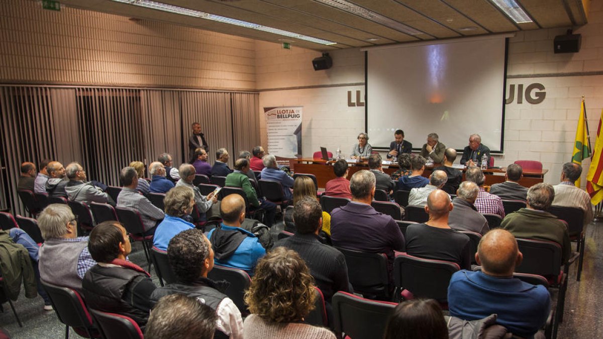
[{"label": "brown panelled ceiling around the fluorescent lights", "polygon": [[376,21],[339,10],[323,4],[319,0],[155,1],[329,40],[335,44],[322,45],[294,37],[280,36],[251,28],[209,21],[200,17],[169,13],[112,0],[60,0],[61,4],[70,7],[118,14],[140,20],[185,25],[251,39],[277,43],[289,42],[292,46],[318,51],[508,33],[538,28],[575,27],[586,24],[587,5],[584,3],[589,0],[517,0],[532,19],[532,22],[523,24],[516,24],[488,0],[348,0],[361,8],[377,13],[377,16],[385,17],[390,22],[394,21],[394,24],[401,23],[416,30],[412,34],[403,33]]}]

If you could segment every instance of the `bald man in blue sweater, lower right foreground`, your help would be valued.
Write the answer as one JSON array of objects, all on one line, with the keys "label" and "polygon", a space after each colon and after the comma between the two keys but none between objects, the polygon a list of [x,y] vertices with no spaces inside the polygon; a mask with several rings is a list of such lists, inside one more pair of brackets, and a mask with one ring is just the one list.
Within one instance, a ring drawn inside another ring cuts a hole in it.
[{"label": "bald man in blue sweater, lower right foreground", "polygon": [[510,232],[494,229],[486,233],[475,254],[482,270],[461,270],[450,279],[450,315],[470,321],[496,313],[496,323],[514,335],[531,338],[546,323],[551,297],[544,286],[513,278],[522,258]]}]

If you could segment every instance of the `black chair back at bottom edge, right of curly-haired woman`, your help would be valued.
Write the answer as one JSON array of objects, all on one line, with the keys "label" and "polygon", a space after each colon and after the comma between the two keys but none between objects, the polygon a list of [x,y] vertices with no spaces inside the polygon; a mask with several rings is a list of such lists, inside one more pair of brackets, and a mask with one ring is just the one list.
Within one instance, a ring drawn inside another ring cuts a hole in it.
[{"label": "black chair back at bottom edge, right of curly-haired woman", "polygon": [[364,299],[354,294],[333,295],[333,325],[338,338],[345,332],[353,339],[383,338],[385,325],[396,303]]}]

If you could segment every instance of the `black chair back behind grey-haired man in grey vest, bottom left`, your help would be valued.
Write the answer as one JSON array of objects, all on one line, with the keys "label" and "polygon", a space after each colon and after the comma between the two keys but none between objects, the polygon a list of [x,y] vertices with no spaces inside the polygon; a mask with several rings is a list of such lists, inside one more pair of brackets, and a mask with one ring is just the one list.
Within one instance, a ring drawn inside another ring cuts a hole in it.
[{"label": "black chair back behind grey-haired man in grey vest, bottom left", "polygon": [[[68,287],[60,287],[40,280],[42,287],[48,293],[48,297],[57,312],[60,322],[72,328],[83,328],[89,332],[94,326],[92,315],[88,312],[84,299],[75,290]],[[98,331],[98,330],[97,330]],[[90,335],[92,337],[92,335]]]}]

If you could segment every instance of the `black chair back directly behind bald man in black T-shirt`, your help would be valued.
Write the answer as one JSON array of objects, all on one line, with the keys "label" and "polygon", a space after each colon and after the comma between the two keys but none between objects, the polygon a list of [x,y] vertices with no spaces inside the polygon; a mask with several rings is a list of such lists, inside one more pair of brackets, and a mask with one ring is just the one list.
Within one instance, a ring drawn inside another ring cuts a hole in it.
[{"label": "black chair back directly behind bald man in black T-shirt", "polygon": [[448,285],[452,274],[460,270],[454,262],[423,259],[399,253],[394,259],[394,281],[400,290],[414,297],[447,303]]}]

